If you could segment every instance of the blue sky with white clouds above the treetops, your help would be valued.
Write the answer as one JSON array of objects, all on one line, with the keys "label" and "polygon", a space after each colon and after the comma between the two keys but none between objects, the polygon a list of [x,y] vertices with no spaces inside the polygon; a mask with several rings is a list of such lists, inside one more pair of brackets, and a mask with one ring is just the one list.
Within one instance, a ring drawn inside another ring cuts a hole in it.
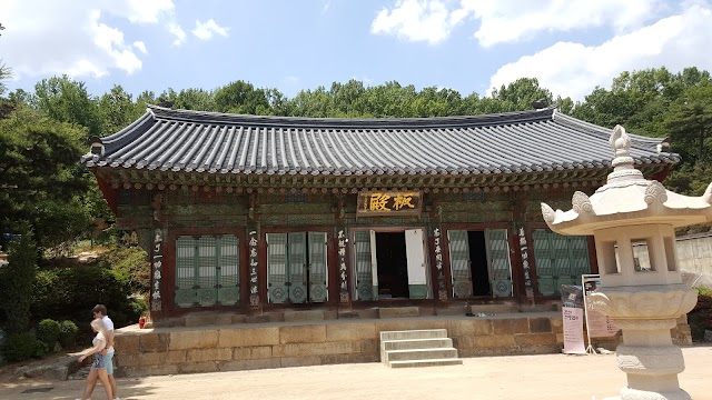
[{"label": "blue sky with white clouds above the treetops", "polygon": [[350,79],[467,96],[537,78],[584,100],[623,71],[712,71],[712,0],[0,0],[10,90],[68,74],[100,96],[288,97]]}]

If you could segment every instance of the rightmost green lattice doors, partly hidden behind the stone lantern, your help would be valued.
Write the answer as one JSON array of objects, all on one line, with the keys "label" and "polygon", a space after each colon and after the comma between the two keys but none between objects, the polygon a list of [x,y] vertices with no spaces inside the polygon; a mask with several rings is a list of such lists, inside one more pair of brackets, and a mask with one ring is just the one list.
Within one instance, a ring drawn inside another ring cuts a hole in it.
[{"label": "rightmost green lattice doors, partly hidden behind the stone lantern", "polygon": [[562,284],[581,284],[581,276],[591,273],[586,237],[536,229],[532,240],[540,294],[557,294]]}]

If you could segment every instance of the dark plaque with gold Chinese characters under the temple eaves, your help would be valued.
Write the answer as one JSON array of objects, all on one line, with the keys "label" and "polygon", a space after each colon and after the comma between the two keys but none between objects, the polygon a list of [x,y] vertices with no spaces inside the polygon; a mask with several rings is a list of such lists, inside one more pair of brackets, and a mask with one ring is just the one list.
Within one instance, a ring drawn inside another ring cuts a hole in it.
[{"label": "dark plaque with gold Chinese characters under the temple eaves", "polygon": [[419,191],[363,191],[358,193],[357,216],[417,216],[421,213]]}]

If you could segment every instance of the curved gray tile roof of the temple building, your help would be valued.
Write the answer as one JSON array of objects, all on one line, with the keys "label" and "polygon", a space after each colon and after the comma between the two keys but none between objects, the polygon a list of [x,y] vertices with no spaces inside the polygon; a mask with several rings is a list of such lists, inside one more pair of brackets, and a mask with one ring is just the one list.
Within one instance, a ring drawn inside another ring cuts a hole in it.
[{"label": "curved gray tile roof of the temple building", "polygon": [[[492,174],[606,168],[611,130],[554,109],[502,114],[329,119],[149,106],[82,157],[88,167],[206,173]],[[631,134],[637,164],[674,163]]]}]

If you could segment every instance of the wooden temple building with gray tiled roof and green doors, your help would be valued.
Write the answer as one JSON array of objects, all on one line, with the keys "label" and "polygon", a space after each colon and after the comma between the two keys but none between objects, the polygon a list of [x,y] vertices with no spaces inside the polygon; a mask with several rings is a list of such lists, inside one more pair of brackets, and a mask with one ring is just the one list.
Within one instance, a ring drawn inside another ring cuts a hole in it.
[{"label": "wooden temple building with gray tiled roof and green doors", "polygon": [[[117,229],[152,261],[151,318],[198,310],[546,303],[597,273],[553,233],[611,172],[610,130],[553,108],[314,119],[150,106],[82,158]],[[630,136],[647,179],[679,157]]]}]

